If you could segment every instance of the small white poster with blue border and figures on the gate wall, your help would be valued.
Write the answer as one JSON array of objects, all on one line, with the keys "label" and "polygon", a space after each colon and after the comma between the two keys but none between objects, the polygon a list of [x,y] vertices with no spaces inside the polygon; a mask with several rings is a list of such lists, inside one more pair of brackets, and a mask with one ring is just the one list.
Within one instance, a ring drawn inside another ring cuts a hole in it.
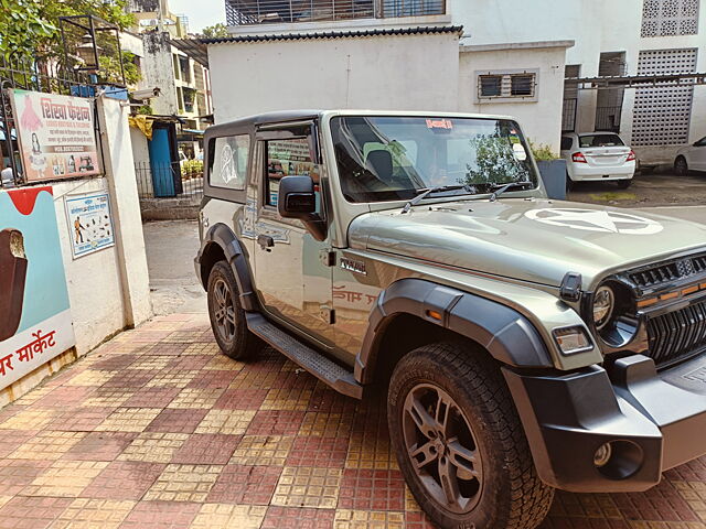
[{"label": "small white poster with blue border and figures on the gate wall", "polygon": [[107,192],[69,195],[65,202],[74,259],[115,245]]}]

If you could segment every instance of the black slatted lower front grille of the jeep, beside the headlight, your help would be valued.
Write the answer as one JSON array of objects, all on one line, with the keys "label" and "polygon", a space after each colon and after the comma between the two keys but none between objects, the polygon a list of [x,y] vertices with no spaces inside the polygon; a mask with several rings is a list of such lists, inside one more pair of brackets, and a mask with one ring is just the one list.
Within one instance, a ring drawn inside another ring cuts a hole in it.
[{"label": "black slatted lower front grille of the jeep, beside the headlight", "polygon": [[657,366],[706,347],[706,301],[648,320],[650,356]]}]

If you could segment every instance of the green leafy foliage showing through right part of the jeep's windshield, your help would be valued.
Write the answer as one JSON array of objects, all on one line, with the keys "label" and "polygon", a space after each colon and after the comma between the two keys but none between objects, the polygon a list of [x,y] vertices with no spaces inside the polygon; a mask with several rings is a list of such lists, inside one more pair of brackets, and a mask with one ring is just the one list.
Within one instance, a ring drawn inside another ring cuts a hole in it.
[{"label": "green leafy foliage showing through right part of the jeep's windshield", "polygon": [[507,138],[496,134],[480,134],[469,140],[475,151],[475,164],[467,164],[461,184],[488,184],[527,180],[525,162],[515,158]]}]

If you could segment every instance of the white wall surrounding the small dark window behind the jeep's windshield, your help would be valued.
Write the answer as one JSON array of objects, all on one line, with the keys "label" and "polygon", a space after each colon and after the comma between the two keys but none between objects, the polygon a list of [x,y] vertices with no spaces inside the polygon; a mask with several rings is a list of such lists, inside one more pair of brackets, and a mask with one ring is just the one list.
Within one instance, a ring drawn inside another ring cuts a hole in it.
[{"label": "white wall surrounding the small dark window behind the jeep's windshield", "polygon": [[[566,47],[463,51],[459,55],[459,110],[518,119],[527,138],[559,151]],[[536,101],[478,102],[478,71],[538,69]]]}]

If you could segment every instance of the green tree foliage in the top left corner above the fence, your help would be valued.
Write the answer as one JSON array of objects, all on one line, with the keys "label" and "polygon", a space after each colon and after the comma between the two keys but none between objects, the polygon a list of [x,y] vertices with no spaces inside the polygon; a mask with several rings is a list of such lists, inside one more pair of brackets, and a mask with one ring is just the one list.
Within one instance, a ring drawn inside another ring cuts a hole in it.
[{"label": "green tree foliage in the top left corner above the fence", "polygon": [[[0,0],[0,54],[12,61],[52,58],[63,63],[60,17],[93,14],[124,30],[135,23],[126,4],[127,0]],[[82,31],[66,31],[69,48],[81,44]],[[101,41],[107,37],[101,35],[98,45],[104,47]],[[111,47],[117,51],[115,44]],[[105,50],[104,53],[110,55],[109,52]],[[106,67],[109,68],[108,76],[115,75],[116,68],[120,71],[117,58]]]}]

